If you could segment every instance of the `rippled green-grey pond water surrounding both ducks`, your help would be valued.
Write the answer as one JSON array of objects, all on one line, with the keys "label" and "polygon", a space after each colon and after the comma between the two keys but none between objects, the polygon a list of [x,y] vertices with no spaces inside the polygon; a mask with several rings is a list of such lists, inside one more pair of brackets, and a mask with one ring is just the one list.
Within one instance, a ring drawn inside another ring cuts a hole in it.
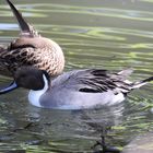
[{"label": "rippled green-grey pond water surrounding both ducks", "polygon": [[[152,0],[44,0],[13,3],[42,35],[66,55],[66,71],[83,68],[136,69],[131,80],[153,75]],[[17,37],[8,4],[0,4],[0,45]],[[0,84],[10,82],[0,78]],[[120,150],[137,136],[153,131],[153,84],[132,92],[120,105],[67,111],[39,109],[20,89],[0,96],[0,152],[93,152],[102,131]],[[110,129],[109,129],[110,128]],[[97,149],[98,150],[98,149]]]}]

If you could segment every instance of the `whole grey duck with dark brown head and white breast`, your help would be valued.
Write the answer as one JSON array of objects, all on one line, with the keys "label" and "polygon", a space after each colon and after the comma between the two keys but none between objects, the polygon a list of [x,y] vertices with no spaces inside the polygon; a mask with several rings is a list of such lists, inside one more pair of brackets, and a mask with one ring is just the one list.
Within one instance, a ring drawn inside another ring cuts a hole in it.
[{"label": "whole grey duck with dark brown head and white breast", "polygon": [[130,82],[127,76],[131,69],[118,73],[106,70],[85,69],[66,72],[52,80],[44,70],[21,67],[14,74],[14,81],[0,94],[16,87],[31,90],[28,101],[43,108],[83,109],[101,105],[114,105],[122,102],[127,94],[153,81],[153,76]]}]

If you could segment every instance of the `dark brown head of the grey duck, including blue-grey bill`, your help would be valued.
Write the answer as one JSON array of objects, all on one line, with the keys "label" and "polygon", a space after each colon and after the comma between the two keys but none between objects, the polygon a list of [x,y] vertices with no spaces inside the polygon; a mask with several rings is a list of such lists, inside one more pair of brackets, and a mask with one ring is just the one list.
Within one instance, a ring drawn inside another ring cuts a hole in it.
[{"label": "dark brown head of the grey duck, including blue-grey bill", "polygon": [[13,82],[7,87],[0,89],[0,94],[9,93],[17,87],[33,91],[47,90],[49,84],[50,76],[46,71],[33,67],[21,67],[14,73]]}]

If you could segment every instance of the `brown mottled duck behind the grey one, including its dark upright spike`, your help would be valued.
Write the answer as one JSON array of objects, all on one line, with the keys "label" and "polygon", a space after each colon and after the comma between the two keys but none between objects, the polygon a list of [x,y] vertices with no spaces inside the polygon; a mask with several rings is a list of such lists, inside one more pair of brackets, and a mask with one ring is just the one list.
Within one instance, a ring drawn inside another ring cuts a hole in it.
[{"label": "brown mottled duck behind the grey one, including its dark upright spike", "polygon": [[34,66],[55,76],[62,72],[64,56],[57,43],[40,36],[7,0],[21,28],[21,35],[7,48],[0,47],[0,74],[10,75],[22,66]]}]

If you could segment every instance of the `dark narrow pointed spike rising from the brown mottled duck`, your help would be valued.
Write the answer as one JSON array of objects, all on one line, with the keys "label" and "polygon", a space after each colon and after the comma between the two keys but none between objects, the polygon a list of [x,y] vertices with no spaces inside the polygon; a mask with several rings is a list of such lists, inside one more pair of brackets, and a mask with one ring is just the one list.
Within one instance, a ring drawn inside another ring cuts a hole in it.
[{"label": "dark narrow pointed spike rising from the brown mottled duck", "polygon": [[16,17],[21,32],[22,33],[31,33],[30,25],[27,22],[23,19],[22,14],[17,11],[17,9],[13,5],[13,3],[10,0],[7,0],[9,3],[11,10],[13,11],[14,16]]}]

